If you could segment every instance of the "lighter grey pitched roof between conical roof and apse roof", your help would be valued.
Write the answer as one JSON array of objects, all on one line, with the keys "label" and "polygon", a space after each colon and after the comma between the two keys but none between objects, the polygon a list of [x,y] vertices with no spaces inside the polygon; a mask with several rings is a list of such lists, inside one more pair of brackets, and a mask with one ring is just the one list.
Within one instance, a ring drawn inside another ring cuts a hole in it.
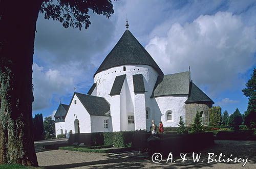
[{"label": "lighter grey pitched roof between conical roof and apse roof", "polygon": [[166,95],[188,95],[190,72],[181,72],[158,76],[151,97]]}]

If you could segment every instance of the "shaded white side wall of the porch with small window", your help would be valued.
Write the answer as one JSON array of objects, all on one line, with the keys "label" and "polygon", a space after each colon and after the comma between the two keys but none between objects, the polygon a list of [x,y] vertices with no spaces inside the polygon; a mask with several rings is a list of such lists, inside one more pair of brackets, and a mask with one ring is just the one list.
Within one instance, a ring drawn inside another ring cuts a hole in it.
[{"label": "shaded white side wall of the porch with small window", "polygon": [[[104,120],[108,120],[108,128],[104,128]],[[110,117],[107,116],[91,116],[92,132],[110,132],[113,131],[110,124]]]}]

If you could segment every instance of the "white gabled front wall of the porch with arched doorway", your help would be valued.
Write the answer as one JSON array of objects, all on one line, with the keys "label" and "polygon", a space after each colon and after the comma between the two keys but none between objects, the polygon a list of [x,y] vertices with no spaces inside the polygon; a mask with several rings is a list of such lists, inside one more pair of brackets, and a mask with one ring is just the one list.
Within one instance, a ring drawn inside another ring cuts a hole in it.
[{"label": "white gabled front wall of the porch with arched doorway", "polygon": [[[74,101],[76,100],[76,104]],[[78,97],[75,95],[72,103],[69,107],[67,116],[65,118],[67,133],[72,130],[75,133],[75,120],[79,120],[80,133],[90,133],[91,132],[91,118]]]}]

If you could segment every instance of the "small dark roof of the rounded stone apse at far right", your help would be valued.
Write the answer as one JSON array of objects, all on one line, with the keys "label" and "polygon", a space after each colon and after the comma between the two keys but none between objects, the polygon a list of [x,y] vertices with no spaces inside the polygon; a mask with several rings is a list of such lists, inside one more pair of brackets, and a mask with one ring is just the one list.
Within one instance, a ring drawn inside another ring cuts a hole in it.
[{"label": "small dark roof of the rounded stone apse at far right", "polygon": [[201,91],[193,82],[190,82],[190,90],[189,96],[185,103],[198,103],[198,102],[208,102],[210,104],[214,104],[203,91]]}]

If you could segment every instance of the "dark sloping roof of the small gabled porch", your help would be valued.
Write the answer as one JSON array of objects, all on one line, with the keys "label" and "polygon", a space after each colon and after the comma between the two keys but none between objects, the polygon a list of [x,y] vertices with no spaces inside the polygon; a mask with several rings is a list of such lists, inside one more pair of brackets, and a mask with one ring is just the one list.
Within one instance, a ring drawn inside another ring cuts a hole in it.
[{"label": "dark sloping roof of the small gabled porch", "polygon": [[109,116],[110,104],[103,97],[92,96],[75,92],[82,105],[92,116]]}]

